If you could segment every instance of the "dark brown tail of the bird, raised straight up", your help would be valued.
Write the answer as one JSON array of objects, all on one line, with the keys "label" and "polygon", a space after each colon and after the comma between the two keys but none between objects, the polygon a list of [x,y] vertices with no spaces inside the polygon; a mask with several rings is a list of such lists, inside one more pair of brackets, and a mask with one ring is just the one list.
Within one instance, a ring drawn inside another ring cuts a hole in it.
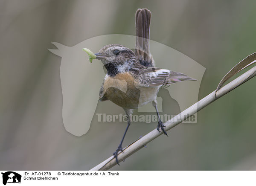
[{"label": "dark brown tail of the bird, raised straight up", "polygon": [[136,46],[135,54],[140,64],[146,67],[154,67],[154,59],[149,51],[149,32],[150,32],[151,12],[144,9],[137,9],[135,14],[136,24]]}]

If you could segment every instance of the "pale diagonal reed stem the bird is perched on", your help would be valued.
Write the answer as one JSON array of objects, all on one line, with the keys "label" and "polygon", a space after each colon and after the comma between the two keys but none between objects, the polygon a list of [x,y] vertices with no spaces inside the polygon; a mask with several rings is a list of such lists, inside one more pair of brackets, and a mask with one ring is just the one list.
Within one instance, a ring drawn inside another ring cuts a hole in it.
[{"label": "pale diagonal reed stem the bird is perched on", "polygon": [[[187,114],[189,116],[192,116],[193,114],[197,113],[202,108],[206,107],[210,103],[214,102],[216,99],[220,98],[221,96],[224,96],[225,94],[229,93],[231,90],[235,89],[236,87],[239,87],[241,84],[249,80],[250,78],[253,78],[256,76],[256,66],[239,76],[238,78],[234,79],[224,87],[221,87],[217,92],[213,91],[208,96],[204,97],[194,105],[190,106],[183,112],[181,112],[179,115],[173,117],[168,122],[165,122],[164,125],[166,126],[166,131],[170,130],[171,128],[175,127],[176,125],[180,124],[184,119],[186,119]],[[137,141],[133,142],[132,144],[128,145],[124,148],[123,152],[120,152],[118,154],[118,160],[121,162],[122,160],[125,160],[127,157],[131,156],[131,154],[134,154],[136,151],[143,148],[147,143],[151,142],[153,139],[159,137],[163,132],[157,131],[157,129],[154,129],[153,131],[149,132],[142,138],[138,139]],[[113,156],[109,157],[107,160],[103,161],[99,165],[93,167],[93,170],[108,170],[111,167],[116,165],[116,160]]]}]

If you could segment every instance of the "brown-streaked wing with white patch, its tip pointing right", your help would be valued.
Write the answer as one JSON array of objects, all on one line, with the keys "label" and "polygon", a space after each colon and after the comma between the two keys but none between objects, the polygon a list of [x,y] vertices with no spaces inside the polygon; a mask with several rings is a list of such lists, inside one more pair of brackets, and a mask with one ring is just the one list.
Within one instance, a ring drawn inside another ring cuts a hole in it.
[{"label": "brown-streaked wing with white patch, its tip pointing right", "polygon": [[136,78],[136,81],[142,87],[161,87],[186,80],[197,81],[183,73],[154,67],[143,68]]}]

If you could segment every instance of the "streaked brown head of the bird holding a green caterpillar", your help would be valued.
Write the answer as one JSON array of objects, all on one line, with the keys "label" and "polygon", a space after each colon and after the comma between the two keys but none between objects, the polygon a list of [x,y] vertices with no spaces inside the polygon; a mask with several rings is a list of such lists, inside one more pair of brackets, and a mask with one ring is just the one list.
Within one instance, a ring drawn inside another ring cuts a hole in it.
[{"label": "streaked brown head of the bird holding a green caterpillar", "polygon": [[139,63],[131,49],[119,44],[103,46],[95,55],[96,59],[102,61],[110,75],[113,72],[114,74],[124,73],[134,64]]}]

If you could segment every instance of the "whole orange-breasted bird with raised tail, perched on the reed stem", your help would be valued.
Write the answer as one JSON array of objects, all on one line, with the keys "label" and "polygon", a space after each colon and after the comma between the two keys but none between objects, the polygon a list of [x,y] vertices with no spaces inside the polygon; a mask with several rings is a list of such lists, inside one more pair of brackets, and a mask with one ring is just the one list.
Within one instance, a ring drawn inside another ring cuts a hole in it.
[{"label": "whole orange-breasted bird with raised tail, perched on the reed stem", "polygon": [[99,90],[99,101],[110,100],[122,107],[128,117],[125,133],[113,153],[118,165],[117,155],[119,151],[123,152],[122,143],[131,124],[133,110],[152,102],[158,117],[157,130],[160,132],[161,129],[167,136],[157,110],[157,93],[161,87],[178,81],[196,81],[186,74],[155,67],[149,51],[151,12],[148,9],[137,10],[135,23],[135,51],[121,44],[108,44],[95,54],[96,59],[102,61],[107,71]]}]

